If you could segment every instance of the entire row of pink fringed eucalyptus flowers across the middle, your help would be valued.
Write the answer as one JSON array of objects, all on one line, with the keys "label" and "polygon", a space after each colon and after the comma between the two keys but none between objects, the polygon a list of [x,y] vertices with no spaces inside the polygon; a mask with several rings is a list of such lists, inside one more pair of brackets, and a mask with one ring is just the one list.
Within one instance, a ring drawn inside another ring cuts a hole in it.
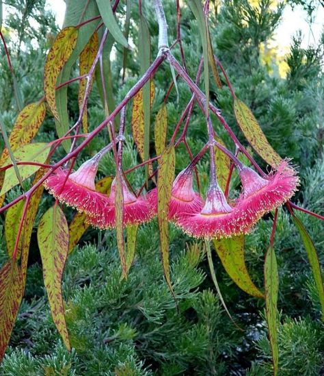
[{"label": "entire row of pink fringed eucalyptus flowers across the middle", "polygon": [[[116,181],[109,196],[96,192],[96,172],[97,166],[90,161],[69,176],[59,168],[46,180],[45,187],[62,203],[84,212],[87,222],[94,227],[113,228],[116,227]],[[266,178],[246,166],[239,167],[239,176],[243,189],[237,200],[228,203],[217,182],[211,183],[204,200],[193,190],[192,168],[186,168],[172,186],[168,218],[197,238],[245,234],[265,213],[288,201],[299,184],[295,169],[286,160]],[[122,178],[122,190],[125,226],[150,221],[157,214],[157,188],[137,197]]]}]

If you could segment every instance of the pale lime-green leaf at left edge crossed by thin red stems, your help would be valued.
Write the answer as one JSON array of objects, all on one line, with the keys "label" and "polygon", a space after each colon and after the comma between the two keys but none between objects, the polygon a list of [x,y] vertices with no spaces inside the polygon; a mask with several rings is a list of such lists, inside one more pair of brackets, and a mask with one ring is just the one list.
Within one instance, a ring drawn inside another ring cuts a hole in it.
[{"label": "pale lime-green leaf at left edge crossed by thin red stems", "polygon": [[[44,142],[35,142],[34,144],[24,145],[14,152],[14,157],[17,162],[38,162],[44,163],[46,161],[47,155],[49,155],[50,145]],[[10,158],[5,160],[3,166],[11,163]],[[18,166],[21,179],[24,181],[27,177],[33,175],[40,169],[39,166],[30,165],[20,165]],[[5,171],[5,179],[3,181],[3,186],[0,192],[0,196],[8,192],[12,187],[19,183],[13,168],[8,168]]]}]

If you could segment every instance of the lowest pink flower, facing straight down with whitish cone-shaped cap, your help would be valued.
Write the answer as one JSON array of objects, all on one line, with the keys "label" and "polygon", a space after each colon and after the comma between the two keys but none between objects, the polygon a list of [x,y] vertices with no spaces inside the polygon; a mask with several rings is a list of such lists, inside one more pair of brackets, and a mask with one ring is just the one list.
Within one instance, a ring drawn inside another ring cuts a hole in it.
[{"label": "lowest pink flower, facing straight down with whitish cone-shaped cap", "polygon": [[228,205],[218,184],[208,188],[206,203],[200,212],[181,214],[176,218],[176,225],[195,238],[228,238],[245,231],[239,228],[235,210]]}]

